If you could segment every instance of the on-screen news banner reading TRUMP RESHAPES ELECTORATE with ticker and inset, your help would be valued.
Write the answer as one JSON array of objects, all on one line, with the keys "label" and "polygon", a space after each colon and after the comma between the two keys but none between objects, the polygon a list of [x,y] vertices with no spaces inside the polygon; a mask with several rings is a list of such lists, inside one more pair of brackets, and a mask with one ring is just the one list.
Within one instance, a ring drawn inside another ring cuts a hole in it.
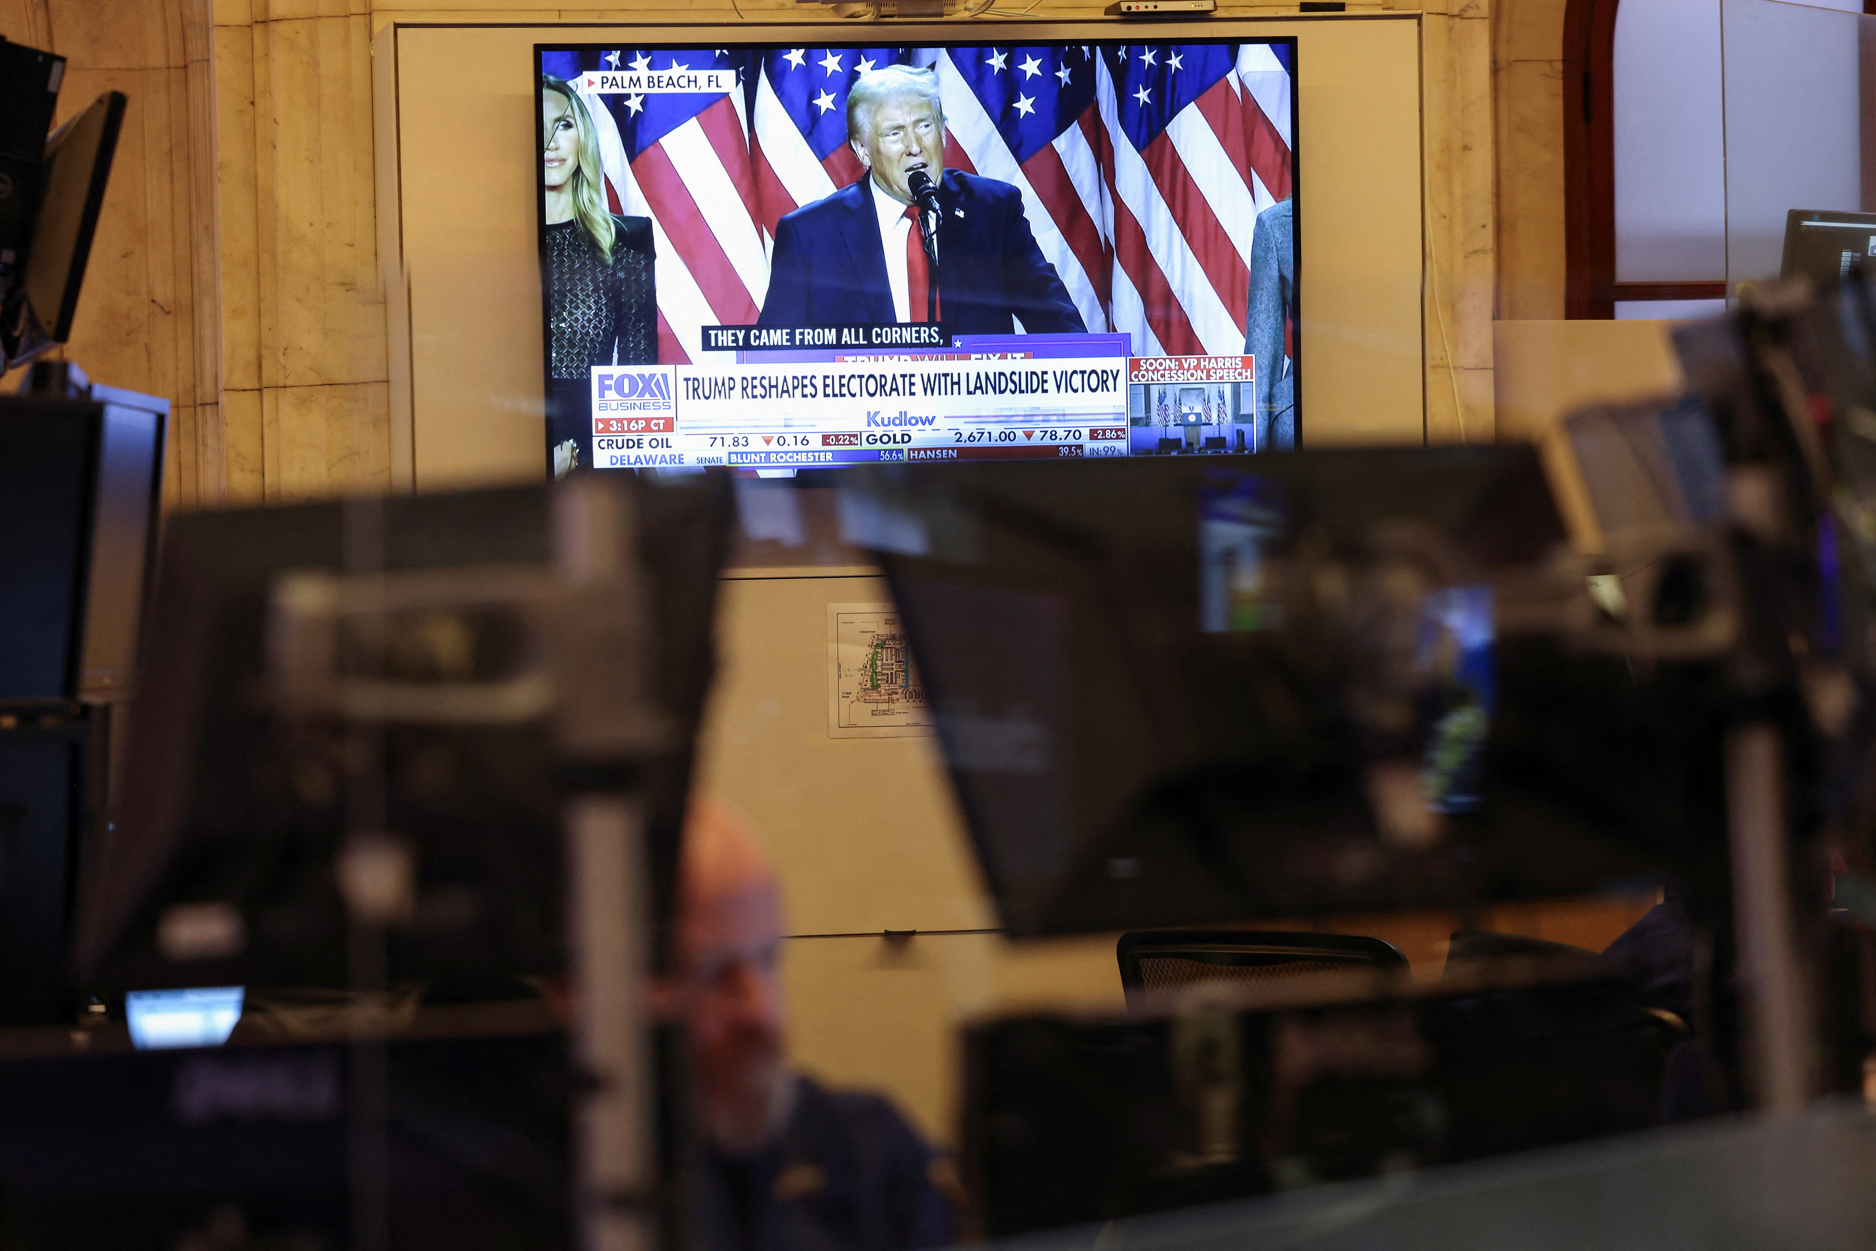
[{"label": "on-screen news banner reading TRUMP RESHAPES ELECTORATE with ticker and inset", "polygon": [[[1105,338],[1086,336],[1096,349]],[[595,368],[593,465],[831,469],[1257,450],[1249,356],[737,356]]]}]

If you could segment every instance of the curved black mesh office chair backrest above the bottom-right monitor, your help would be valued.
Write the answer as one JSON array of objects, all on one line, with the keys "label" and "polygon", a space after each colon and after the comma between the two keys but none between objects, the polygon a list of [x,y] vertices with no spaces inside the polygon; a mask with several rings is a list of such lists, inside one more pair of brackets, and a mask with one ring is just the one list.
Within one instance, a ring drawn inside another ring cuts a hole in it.
[{"label": "curved black mesh office chair backrest above the bottom-right monitor", "polygon": [[1274,930],[1131,930],[1114,945],[1127,1009],[1203,983],[1268,985],[1349,970],[1401,970],[1407,957],[1379,938]]}]

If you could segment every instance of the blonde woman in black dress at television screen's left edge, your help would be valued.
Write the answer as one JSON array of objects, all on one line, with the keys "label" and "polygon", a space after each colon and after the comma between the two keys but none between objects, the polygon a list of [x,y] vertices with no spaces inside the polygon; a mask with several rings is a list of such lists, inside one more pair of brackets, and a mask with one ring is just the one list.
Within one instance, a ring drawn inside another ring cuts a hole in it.
[{"label": "blonde woman in black dress at television screen's left edge", "polygon": [[606,210],[593,116],[540,75],[540,279],[548,317],[548,446],[555,476],[593,463],[593,366],[658,362],[651,218]]}]

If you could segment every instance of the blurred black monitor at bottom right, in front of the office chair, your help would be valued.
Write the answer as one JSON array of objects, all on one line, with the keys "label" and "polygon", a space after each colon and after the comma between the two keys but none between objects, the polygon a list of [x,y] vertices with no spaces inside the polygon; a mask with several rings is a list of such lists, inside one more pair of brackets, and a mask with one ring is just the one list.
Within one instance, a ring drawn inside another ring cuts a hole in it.
[{"label": "blurred black monitor at bottom right, in front of the office chair", "polygon": [[[1214,996],[966,1026],[959,1157],[983,1236],[1082,1225],[1092,1240],[1099,1221],[1657,1125],[1668,1035],[1615,979],[1403,990],[1328,973],[1240,990],[1259,1011]],[[1454,1243],[1439,1227],[1242,1245]]]}]

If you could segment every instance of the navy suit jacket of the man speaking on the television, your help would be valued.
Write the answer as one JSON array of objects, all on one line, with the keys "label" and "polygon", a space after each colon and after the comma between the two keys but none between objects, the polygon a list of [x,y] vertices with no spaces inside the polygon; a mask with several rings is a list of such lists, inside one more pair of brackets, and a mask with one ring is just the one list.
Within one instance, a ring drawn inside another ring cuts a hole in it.
[{"label": "navy suit jacket of the man speaking on the television", "polygon": [[[869,178],[805,204],[775,227],[760,324],[895,323]],[[938,180],[940,321],[951,334],[1084,332],[1075,302],[1036,246],[1022,193],[947,169]]]}]

